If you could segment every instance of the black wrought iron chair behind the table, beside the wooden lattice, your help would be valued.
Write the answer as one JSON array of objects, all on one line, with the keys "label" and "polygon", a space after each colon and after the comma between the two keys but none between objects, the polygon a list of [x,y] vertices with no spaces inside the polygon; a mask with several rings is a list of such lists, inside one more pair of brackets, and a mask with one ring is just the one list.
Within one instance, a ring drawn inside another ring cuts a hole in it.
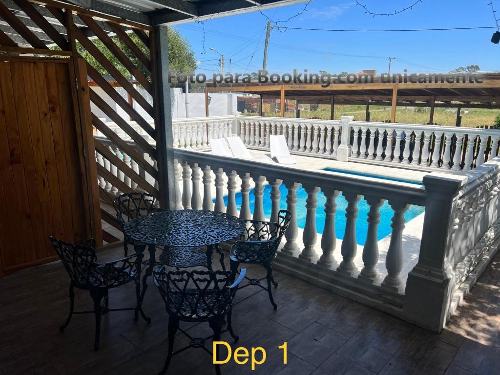
[{"label": "black wrought iron chair behind the table, beside the wooden lattice", "polygon": [[[113,200],[113,207],[116,210],[116,220],[121,225],[123,232],[123,252],[128,254],[128,245],[134,245],[132,238],[125,234],[123,224],[136,217],[147,215],[160,210],[156,205],[156,198],[147,193],[122,194]],[[215,251],[220,256],[220,264],[224,269],[224,254],[218,246],[214,246]],[[149,264],[145,260],[143,264]],[[207,266],[207,254],[203,247],[165,247],[155,265],[168,265],[176,268],[189,268],[196,266]]]}]

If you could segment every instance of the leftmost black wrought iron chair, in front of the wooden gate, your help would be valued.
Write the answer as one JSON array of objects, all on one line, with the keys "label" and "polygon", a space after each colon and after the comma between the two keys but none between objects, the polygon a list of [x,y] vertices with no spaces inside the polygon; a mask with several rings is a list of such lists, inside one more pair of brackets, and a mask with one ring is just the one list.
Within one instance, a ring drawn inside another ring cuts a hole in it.
[{"label": "leftmost black wrought iron chair, in front of the wooden gate", "polygon": [[[137,301],[139,300],[139,264],[142,256],[133,254],[122,259],[98,263],[93,238],[76,243],[61,241],[54,237],[49,237],[49,239],[71,279],[69,284],[69,315],[64,324],[59,327],[59,331],[64,332],[73,314],[94,313],[94,350],[97,350],[99,347],[101,315],[109,311],[135,310],[135,320],[137,320],[137,307],[109,308],[108,291],[134,281],[135,295]],[[74,288],[90,292],[94,304],[93,310],[74,311]]]}]

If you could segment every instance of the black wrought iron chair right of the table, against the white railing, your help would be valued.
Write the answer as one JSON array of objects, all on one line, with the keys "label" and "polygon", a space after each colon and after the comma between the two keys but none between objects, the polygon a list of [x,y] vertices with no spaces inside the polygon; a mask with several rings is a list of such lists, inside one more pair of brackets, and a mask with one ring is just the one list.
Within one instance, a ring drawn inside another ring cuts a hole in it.
[{"label": "black wrought iron chair right of the table, against the white railing", "polygon": [[[284,232],[288,228],[290,220],[291,213],[287,210],[279,211],[277,223],[245,220],[247,223],[246,230],[241,234],[239,240],[232,245],[229,253],[233,275],[235,275],[240,263],[261,264],[264,266],[267,270],[265,277],[260,279],[245,277],[248,283],[241,288],[249,285],[260,286],[269,294],[269,300],[274,310],[277,309],[277,305],[272,299],[271,283],[275,288],[277,288],[278,283],[275,282],[272,277],[272,261],[276,257],[279,243],[281,242]],[[267,287],[260,285],[260,281],[263,279],[267,280]]]}]

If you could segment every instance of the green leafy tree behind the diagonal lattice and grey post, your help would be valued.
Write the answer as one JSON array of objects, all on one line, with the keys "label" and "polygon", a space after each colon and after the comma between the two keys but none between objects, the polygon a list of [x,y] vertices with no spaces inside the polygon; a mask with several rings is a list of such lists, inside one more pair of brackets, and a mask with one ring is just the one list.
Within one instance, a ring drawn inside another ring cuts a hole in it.
[{"label": "green leafy tree behind the diagonal lattice and grey post", "polygon": [[[142,51],[142,53],[149,57],[149,49],[140,39],[133,33],[128,34],[133,43]],[[114,36],[111,37],[112,41],[123,51],[123,53],[130,59],[134,66],[136,66],[150,81],[151,75],[148,70],[141,64],[130,49],[121,40]],[[119,60],[107,49],[107,47],[98,39],[92,40],[92,43],[99,49],[99,51],[113,64],[113,66],[127,79],[132,78],[132,74],[119,62]],[[58,49],[58,48],[53,48]],[[109,74],[99,62],[87,51],[80,43],[76,43],[76,49],[80,55],[100,74]],[[196,70],[196,60],[194,53],[188,41],[182,37],[175,29],[168,28],[168,62],[170,70],[177,73],[189,73]],[[172,82],[171,86],[177,86],[178,83]]]}]

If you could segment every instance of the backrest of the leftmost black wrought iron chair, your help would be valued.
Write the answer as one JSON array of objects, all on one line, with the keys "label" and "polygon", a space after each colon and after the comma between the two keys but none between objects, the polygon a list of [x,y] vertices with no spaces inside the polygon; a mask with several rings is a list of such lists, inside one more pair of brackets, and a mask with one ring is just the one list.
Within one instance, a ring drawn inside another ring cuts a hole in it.
[{"label": "backrest of the leftmost black wrought iron chair", "polygon": [[54,237],[49,237],[55,252],[59,256],[62,265],[66,269],[71,281],[79,287],[91,285],[90,274],[94,268],[97,257],[95,249],[88,243],[69,243]]}]

